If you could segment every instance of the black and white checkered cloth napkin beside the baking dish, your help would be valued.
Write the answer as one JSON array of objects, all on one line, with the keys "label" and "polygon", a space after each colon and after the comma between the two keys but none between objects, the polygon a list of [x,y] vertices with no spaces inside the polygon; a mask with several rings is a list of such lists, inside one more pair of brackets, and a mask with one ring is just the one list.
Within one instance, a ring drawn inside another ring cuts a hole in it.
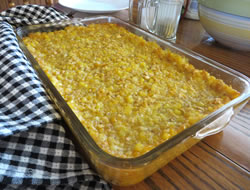
[{"label": "black and white checkered cloth napkin beside the baking dish", "polygon": [[0,13],[0,189],[111,188],[75,151],[11,26],[61,19],[38,5]]}]

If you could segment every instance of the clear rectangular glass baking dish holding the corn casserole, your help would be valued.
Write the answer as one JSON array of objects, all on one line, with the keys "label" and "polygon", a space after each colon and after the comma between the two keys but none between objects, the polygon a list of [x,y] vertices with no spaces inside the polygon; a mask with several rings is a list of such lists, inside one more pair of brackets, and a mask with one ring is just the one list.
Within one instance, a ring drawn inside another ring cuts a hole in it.
[{"label": "clear rectangular glass baking dish holding the corn casserole", "polygon": [[[195,68],[204,69],[216,78],[222,79],[226,84],[239,91],[240,96],[140,157],[126,159],[109,155],[97,146],[22,42],[22,38],[32,32],[49,32],[63,29],[67,25],[88,25],[90,23],[116,23],[148,41],[155,41],[163,49],[168,48],[188,58]],[[202,138],[220,132],[230,119],[243,108],[250,97],[248,77],[115,17],[76,18],[58,23],[26,26],[17,28],[16,33],[21,49],[30,60],[49,96],[67,122],[67,127],[72,133],[73,141],[75,141],[79,151],[105,180],[119,186],[128,186],[142,181]]]}]

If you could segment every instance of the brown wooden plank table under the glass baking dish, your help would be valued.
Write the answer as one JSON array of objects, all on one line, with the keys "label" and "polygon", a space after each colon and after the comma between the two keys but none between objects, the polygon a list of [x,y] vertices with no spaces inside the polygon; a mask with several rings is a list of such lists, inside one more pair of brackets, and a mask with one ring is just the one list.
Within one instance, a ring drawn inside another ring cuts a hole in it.
[{"label": "brown wooden plank table under the glass baking dish", "polygon": [[[59,5],[57,8],[69,12]],[[113,14],[128,20],[128,12]],[[75,13],[74,17],[89,16]],[[177,44],[218,61],[250,77],[250,52],[226,48],[215,42],[199,21],[180,21]],[[223,132],[205,138],[143,182],[116,190],[250,189],[250,103]]]}]

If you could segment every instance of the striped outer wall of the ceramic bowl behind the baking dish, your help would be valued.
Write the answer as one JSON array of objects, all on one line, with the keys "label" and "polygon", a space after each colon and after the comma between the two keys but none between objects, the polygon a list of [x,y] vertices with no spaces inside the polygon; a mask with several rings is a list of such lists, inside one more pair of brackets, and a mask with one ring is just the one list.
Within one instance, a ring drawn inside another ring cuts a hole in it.
[{"label": "striped outer wall of the ceramic bowl behind the baking dish", "polygon": [[202,26],[216,41],[237,50],[250,51],[250,17],[199,5]]}]

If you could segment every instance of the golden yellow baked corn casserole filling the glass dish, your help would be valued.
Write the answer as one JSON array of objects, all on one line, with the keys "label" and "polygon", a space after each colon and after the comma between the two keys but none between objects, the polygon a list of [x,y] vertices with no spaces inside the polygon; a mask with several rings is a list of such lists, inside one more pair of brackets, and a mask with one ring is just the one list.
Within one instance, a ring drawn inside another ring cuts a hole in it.
[{"label": "golden yellow baked corn casserole filling the glass dish", "polygon": [[137,157],[239,93],[115,24],[32,33],[24,43],[96,143]]}]

